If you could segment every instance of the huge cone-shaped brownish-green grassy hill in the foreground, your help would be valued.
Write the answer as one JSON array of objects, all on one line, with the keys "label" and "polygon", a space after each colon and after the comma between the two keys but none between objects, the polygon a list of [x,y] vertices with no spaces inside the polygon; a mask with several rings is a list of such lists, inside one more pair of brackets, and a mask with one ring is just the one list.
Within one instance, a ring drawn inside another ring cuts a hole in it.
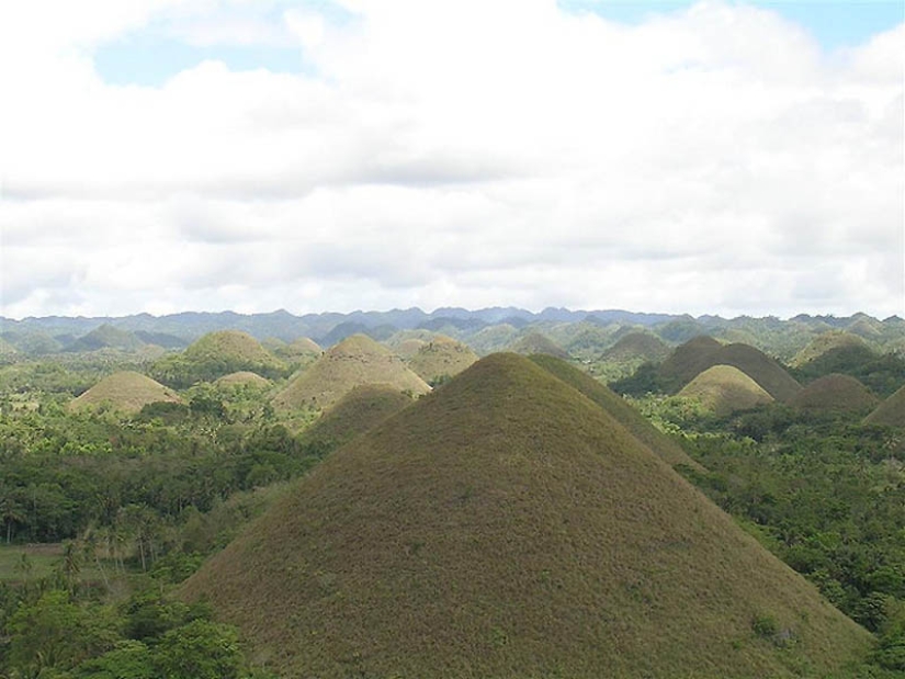
[{"label": "huge cone-shaped brownish-green grassy hill in the foreground", "polygon": [[489,357],[182,586],[280,676],[815,676],[870,635],[613,418]]}]

